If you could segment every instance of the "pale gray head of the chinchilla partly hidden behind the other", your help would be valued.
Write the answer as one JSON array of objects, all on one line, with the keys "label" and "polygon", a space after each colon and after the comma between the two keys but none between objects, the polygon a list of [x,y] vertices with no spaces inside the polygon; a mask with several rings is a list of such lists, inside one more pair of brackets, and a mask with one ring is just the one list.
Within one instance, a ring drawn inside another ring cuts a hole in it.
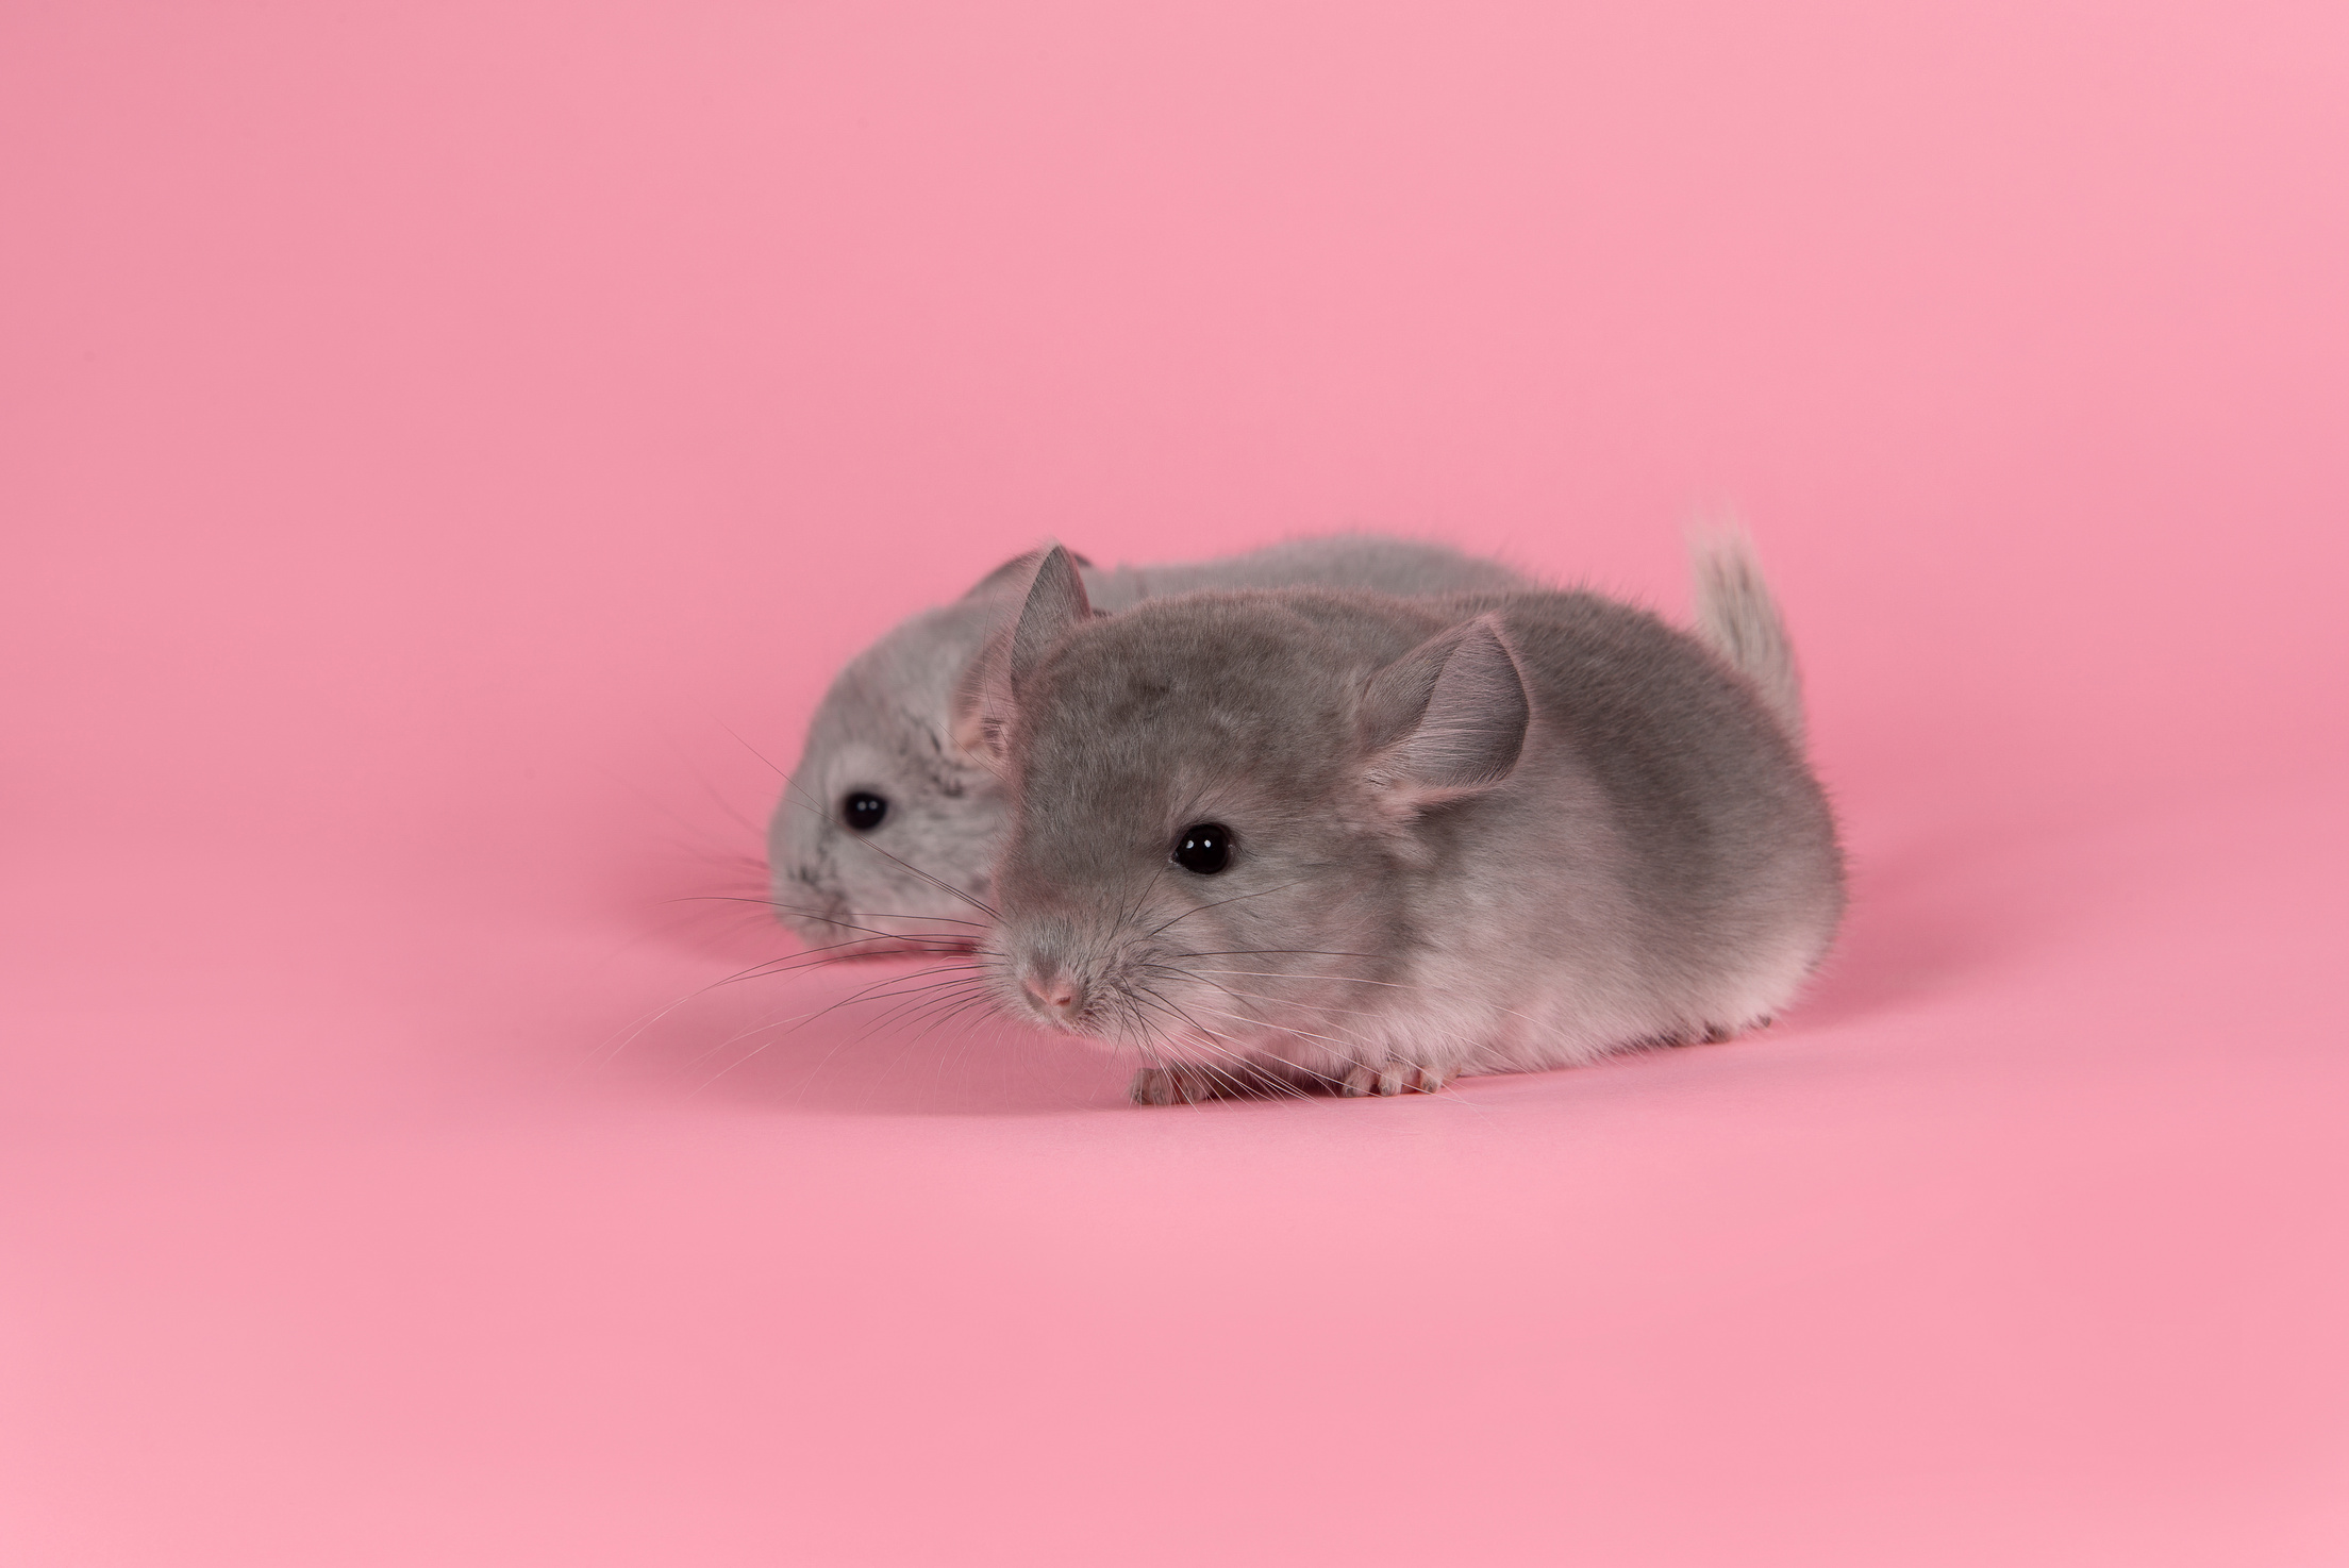
[{"label": "pale gray head of the chinchilla partly hidden behind the other", "polygon": [[958,744],[954,692],[1041,552],[860,653],[808,723],[768,826],[775,913],[815,948],[970,946],[1003,829],[989,758]]}]

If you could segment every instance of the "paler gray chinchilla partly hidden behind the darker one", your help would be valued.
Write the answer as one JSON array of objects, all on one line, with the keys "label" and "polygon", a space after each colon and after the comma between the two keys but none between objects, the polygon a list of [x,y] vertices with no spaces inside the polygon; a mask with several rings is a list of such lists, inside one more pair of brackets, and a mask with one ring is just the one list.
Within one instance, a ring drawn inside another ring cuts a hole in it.
[{"label": "paler gray chinchilla partly hidden behind the darker one", "polygon": [[[1043,552],[860,653],[832,683],[768,826],[770,901],[832,955],[968,948],[989,897],[1003,791],[954,709]],[[1221,561],[1099,570],[1064,556],[1102,610],[1191,589],[1322,584],[1388,594],[1522,589],[1496,561],[1381,535],[1294,540]]]}]

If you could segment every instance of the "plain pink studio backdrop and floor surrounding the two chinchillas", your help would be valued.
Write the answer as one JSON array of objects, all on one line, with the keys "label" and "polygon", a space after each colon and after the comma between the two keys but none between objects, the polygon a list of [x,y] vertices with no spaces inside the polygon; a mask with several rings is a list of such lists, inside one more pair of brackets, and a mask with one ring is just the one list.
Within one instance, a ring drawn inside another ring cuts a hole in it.
[{"label": "plain pink studio backdrop and floor surrounding the two chinchillas", "polygon": [[[0,160],[5,1561],[2349,1561],[2337,0],[16,0]],[[1717,505],[1769,1035],[688,995],[728,730],[1045,533]]]}]

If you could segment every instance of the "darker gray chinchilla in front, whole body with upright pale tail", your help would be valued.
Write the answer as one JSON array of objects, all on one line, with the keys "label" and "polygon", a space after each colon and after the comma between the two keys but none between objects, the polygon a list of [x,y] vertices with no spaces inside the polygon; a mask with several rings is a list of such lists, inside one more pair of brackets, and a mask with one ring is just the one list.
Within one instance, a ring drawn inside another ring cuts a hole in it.
[{"label": "darker gray chinchilla in front, whole body with upright pale tail", "polygon": [[1560,592],[1097,617],[1052,552],[980,683],[998,1005],[1135,1052],[1156,1103],[1769,1021],[1835,934],[1842,852],[1750,547],[1696,554],[1691,636]]}]

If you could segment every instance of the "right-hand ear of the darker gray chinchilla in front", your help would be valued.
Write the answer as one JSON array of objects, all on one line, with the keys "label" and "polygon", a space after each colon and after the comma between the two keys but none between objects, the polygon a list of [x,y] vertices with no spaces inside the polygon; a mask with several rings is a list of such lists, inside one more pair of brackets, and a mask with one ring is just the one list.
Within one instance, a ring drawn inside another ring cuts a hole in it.
[{"label": "right-hand ear of the darker gray chinchilla in front", "polygon": [[1409,803],[1499,784],[1532,718],[1517,660],[1499,622],[1480,615],[1372,676],[1362,695],[1369,784]]}]

